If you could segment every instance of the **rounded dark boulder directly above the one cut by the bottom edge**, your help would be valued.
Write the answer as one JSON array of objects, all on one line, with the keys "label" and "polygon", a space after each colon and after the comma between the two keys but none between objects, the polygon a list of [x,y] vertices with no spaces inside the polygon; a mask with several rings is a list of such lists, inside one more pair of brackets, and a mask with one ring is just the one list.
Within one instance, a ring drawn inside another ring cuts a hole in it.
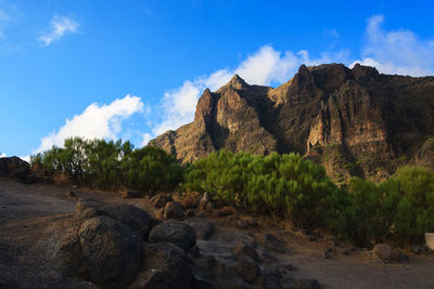
[{"label": "rounded dark boulder directly above the one cut by the bottom edge", "polygon": [[188,252],[196,244],[196,234],[188,224],[170,220],[153,227],[149,234],[149,241],[171,242]]}]

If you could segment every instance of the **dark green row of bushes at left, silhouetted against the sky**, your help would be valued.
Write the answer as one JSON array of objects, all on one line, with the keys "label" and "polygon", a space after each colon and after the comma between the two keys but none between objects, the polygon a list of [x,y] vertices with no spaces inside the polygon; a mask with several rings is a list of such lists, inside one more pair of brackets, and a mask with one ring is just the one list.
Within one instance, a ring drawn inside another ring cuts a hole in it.
[{"label": "dark green row of bushes at left, silhouetted against the sky", "polygon": [[156,147],[133,149],[122,141],[68,139],[62,148],[33,156],[30,163],[47,176],[100,189],[153,193],[173,189],[182,180],[182,167],[174,156]]}]

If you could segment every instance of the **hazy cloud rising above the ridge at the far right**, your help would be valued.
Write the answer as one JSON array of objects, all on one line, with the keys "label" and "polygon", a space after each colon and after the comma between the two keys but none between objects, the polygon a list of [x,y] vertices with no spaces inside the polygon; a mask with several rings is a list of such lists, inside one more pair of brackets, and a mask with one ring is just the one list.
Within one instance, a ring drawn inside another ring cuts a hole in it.
[{"label": "hazy cloud rising above the ridge at the far right", "polygon": [[434,41],[421,40],[407,29],[385,31],[383,15],[368,19],[362,60],[354,62],[375,66],[384,74],[427,76],[434,73]]}]

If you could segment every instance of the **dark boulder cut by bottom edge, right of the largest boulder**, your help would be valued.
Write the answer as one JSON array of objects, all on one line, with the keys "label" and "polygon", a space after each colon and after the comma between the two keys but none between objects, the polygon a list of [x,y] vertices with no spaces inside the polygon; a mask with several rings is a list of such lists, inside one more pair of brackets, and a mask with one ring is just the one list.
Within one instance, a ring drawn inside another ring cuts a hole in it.
[{"label": "dark boulder cut by bottom edge, right of the largest boulder", "polygon": [[149,244],[143,250],[143,271],[130,288],[190,288],[191,262],[170,242]]}]

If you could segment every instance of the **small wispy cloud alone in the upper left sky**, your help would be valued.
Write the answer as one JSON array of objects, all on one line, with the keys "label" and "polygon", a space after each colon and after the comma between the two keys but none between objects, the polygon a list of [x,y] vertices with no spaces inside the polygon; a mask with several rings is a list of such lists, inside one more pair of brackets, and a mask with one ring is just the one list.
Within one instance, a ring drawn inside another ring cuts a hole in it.
[{"label": "small wispy cloud alone in the upper left sky", "polygon": [[38,38],[38,40],[46,47],[51,42],[61,39],[67,34],[75,34],[78,29],[78,23],[69,17],[54,15],[50,22],[50,31]]}]

